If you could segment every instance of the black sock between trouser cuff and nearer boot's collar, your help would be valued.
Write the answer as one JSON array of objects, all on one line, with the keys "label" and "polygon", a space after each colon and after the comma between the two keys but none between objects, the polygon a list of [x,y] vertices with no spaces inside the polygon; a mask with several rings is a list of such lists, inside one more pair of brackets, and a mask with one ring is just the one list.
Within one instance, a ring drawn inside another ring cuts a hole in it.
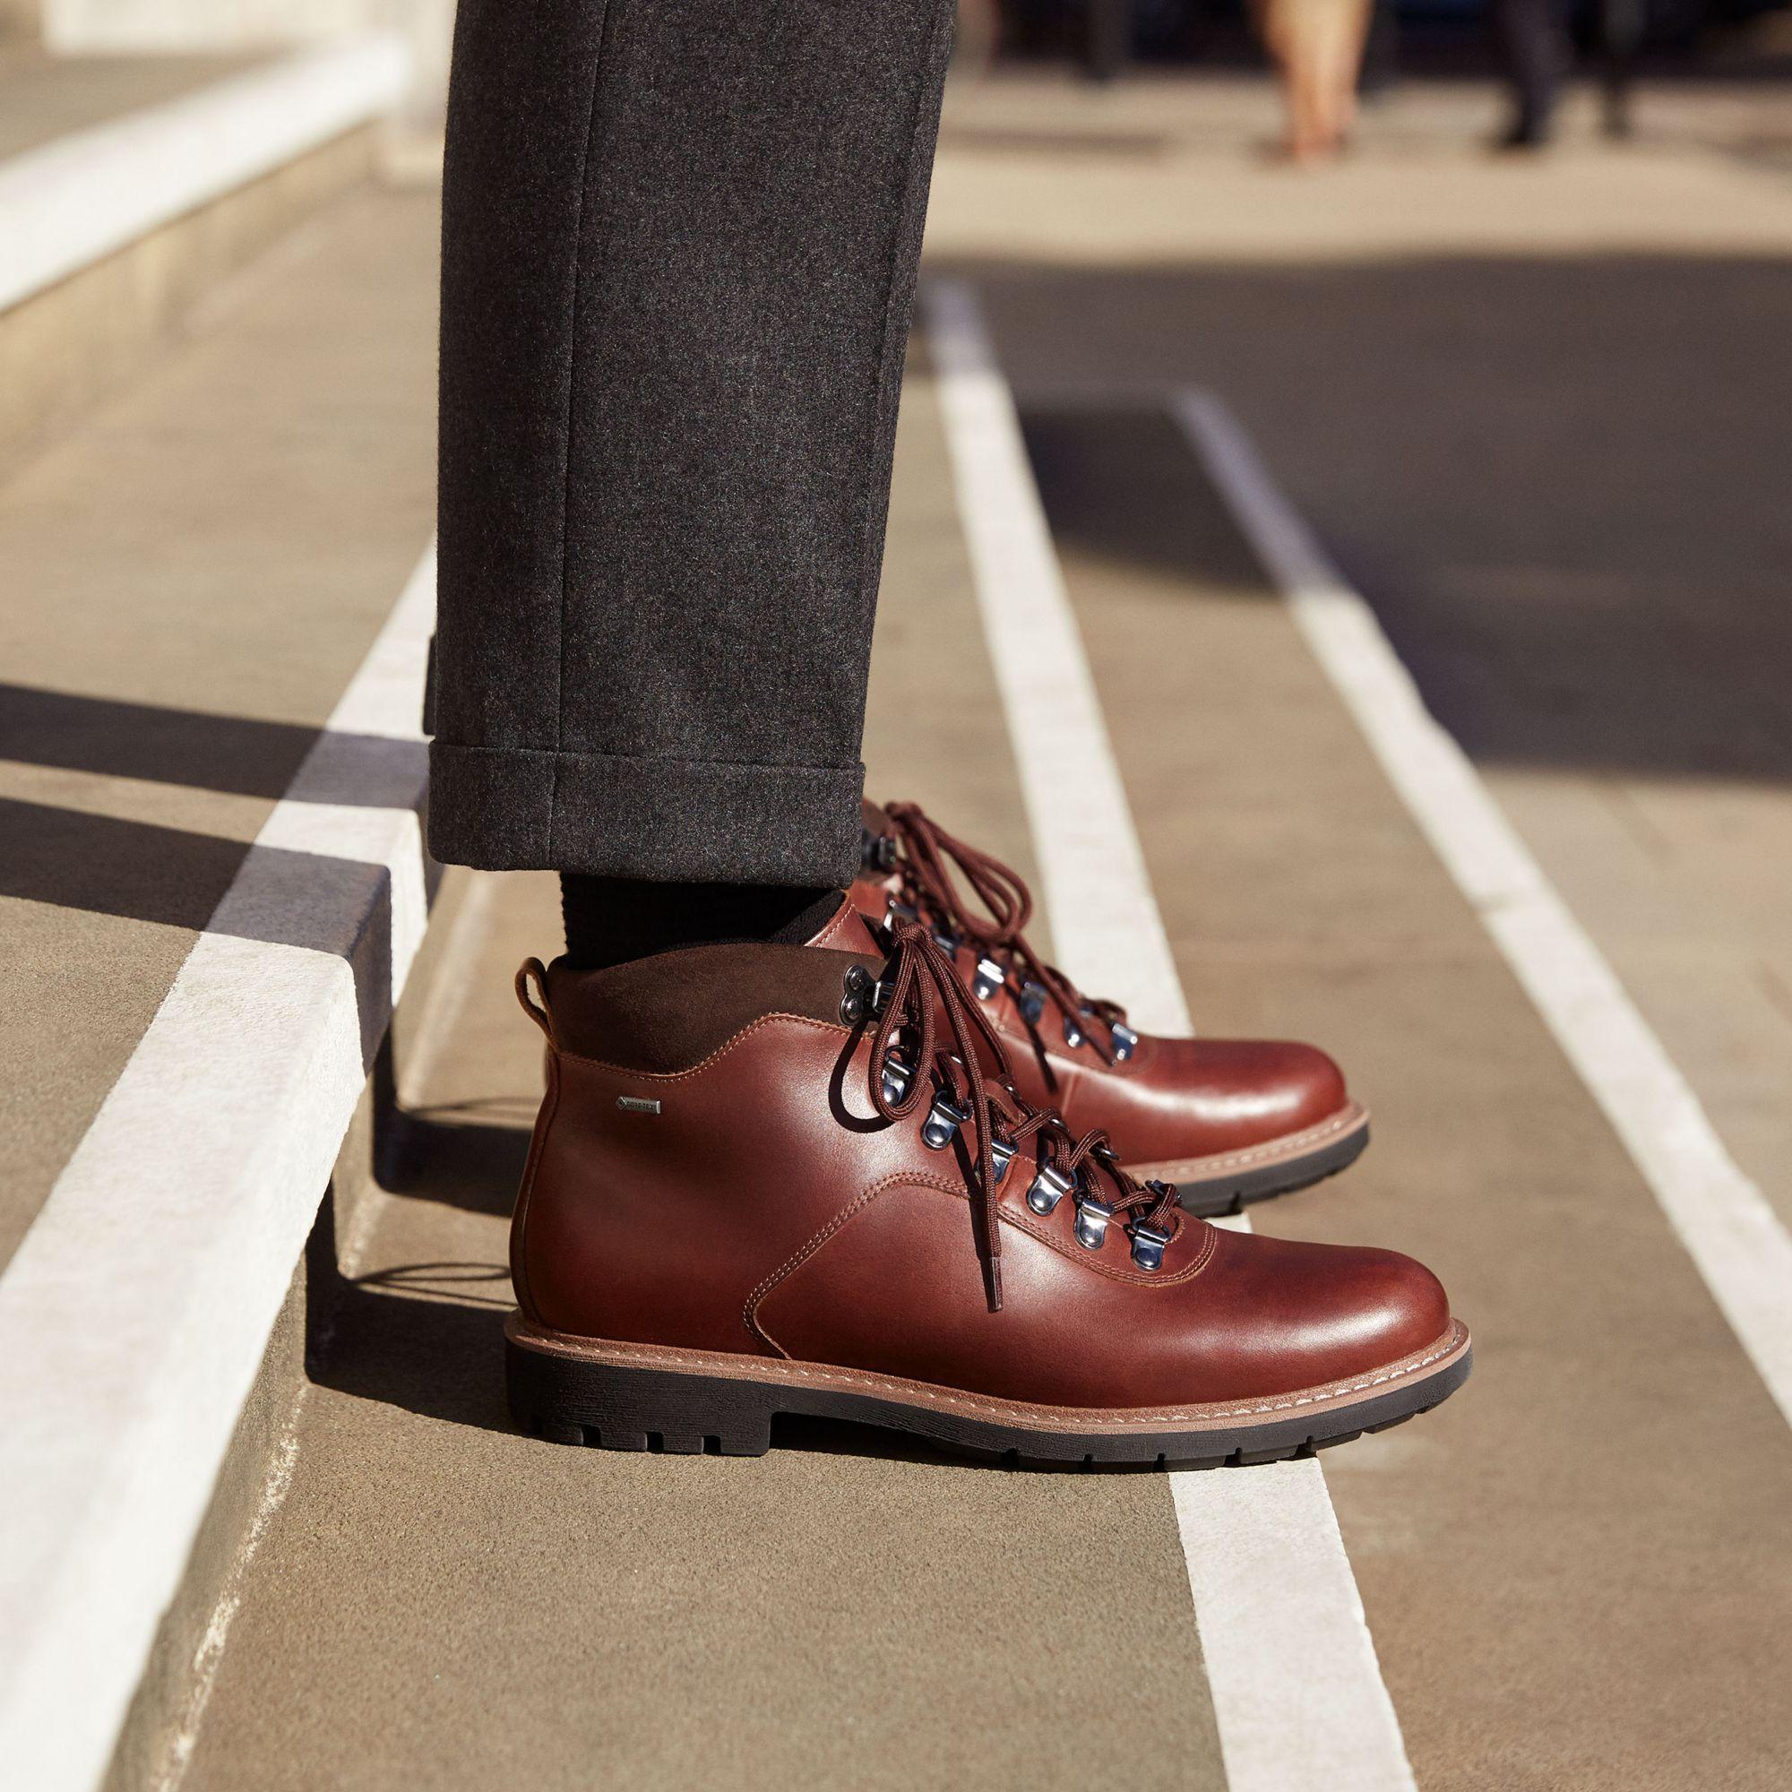
[{"label": "black sock between trouser cuff and nearer boot's collar", "polygon": [[561,873],[566,957],[581,971],[724,939],[801,946],[844,900],[837,889],[781,883],[647,883]]}]

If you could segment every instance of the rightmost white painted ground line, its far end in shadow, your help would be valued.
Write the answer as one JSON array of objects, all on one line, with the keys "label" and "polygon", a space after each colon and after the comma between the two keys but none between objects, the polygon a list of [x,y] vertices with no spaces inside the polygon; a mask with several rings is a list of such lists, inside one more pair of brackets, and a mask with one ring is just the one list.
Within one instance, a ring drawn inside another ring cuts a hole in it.
[{"label": "rightmost white painted ground line, its far end in shadow", "polygon": [[1210,392],[1172,409],[1314,656],[1591,1090],[1792,1423],[1792,1235],[1736,1167],[1604,953],[1444,733],[1382,633]]}]

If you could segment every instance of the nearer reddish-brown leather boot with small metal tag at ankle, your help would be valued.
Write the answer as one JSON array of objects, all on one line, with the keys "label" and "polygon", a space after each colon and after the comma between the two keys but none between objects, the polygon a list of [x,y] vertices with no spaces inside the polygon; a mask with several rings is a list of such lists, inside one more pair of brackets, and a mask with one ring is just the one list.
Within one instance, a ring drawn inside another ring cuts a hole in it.
[{"label": "nearer reddish-brown leather boot with small metal tag at ankle", "polygon": [[518,995],[550,1047],[511,1233],[525,1430],[760,1453],[787,1412],[1242,1462],[1468,1374],[1417,1263],[1219,1231],[1004,1086],[921,926],[885,955],[848,905],[808,946],[530,961]]}]

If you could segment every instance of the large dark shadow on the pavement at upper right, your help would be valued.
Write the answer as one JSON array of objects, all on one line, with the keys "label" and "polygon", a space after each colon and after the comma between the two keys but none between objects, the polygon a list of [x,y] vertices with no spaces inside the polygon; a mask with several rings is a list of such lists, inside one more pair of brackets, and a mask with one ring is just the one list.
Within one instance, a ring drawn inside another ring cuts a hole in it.
[{"label": "large dark shadow on the pavement at upper right", "polygon": [[1473,758],[1792,781],[1792,258],[950,271],[1066,550],[1269,595],[1142,396],[1206,387]]}]

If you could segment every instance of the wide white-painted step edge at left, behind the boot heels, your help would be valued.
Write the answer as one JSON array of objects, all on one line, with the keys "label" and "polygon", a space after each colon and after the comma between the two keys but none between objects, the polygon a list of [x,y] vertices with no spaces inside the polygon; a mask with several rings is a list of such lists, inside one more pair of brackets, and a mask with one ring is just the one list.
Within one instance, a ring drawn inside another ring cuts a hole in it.
[{"label": "wide white-painted step edge at left, behind the boot heels", "polygon": [[[340,788],[362,753],[385,790],[409,762],[421,797],[434,597],[432,552],[296,792]],[[382,869],[383,1007],[425,921],[414,808],[274,806],[0,1276],[7,1785],[90,1792],[104,1772],[366,1082],[349,962],[271,941],[319,932],[319,889],[360,903],[324,916],[355,937],[382,918]]]}]

